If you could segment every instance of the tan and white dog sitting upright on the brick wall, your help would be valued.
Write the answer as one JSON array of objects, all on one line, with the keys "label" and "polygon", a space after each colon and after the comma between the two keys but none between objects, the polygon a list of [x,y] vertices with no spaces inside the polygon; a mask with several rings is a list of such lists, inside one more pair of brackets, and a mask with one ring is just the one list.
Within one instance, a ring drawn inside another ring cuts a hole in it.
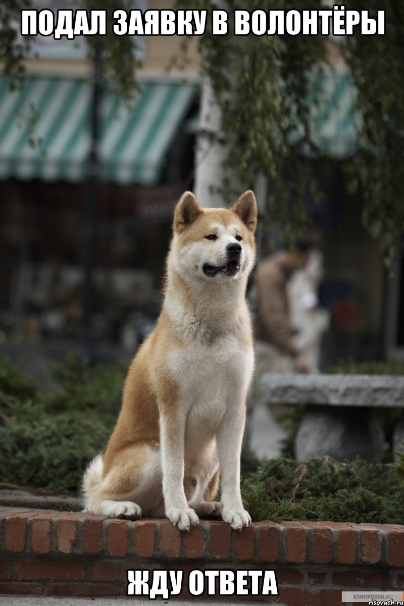
[{"label": "tan and white dog sitting upright on the brick wall", "polygon": [[[165,515],[180,530],[211,514],[236,530],[250,523],[240,450],[253,373],[245,291],[256,222],[252,191],[231,210],[201,208],[189,191],[177,203],[161,315],[129,368],[107,450],[85,471],[88,511]],[[219,468],[221,503],[213,500]]]}]

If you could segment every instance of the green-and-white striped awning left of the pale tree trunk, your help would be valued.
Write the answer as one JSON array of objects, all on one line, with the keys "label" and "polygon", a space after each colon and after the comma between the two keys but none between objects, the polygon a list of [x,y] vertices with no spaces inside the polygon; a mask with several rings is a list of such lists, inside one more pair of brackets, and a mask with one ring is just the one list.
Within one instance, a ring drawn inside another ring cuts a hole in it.
[{"label": "green-and-white striped awning left of the pale tree trunk", "polygon": [[[101,177],[119,183],[156,182],[187,115],[194,84],[147,82],[133,102],[102,98]],[[0,80],[0,179],[80,181],[87,174],[91,86],[28,77],[18,90]]]}]

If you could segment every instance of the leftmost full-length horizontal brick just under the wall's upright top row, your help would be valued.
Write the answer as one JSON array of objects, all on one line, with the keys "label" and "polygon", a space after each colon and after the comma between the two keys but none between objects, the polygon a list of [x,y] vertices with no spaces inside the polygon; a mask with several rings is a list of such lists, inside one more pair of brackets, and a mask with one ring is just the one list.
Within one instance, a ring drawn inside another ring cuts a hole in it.
[{"label": "leftmost full-length horizontal brick just under the wall's upright top row", "polygon": [[83,581],[83,562],[55,562],[21,560],[17,562],[18,581]]}]

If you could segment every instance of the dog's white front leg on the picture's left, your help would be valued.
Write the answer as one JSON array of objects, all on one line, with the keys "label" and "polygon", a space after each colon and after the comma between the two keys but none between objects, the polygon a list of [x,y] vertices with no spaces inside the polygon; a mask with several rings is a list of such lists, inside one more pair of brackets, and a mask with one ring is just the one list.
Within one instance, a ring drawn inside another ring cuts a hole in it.
[{"label": "dog's white front leg on the picture's left", "polygon": [[199,519],[184,491],[185,415],[161,409],[160,435],[165,514],[174,526],[189,530]]}]

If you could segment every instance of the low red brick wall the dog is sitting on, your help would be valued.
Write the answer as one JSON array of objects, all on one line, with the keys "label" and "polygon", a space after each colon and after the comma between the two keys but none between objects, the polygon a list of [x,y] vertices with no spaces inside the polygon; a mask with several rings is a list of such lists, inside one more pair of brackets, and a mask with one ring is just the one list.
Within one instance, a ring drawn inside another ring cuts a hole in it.
[{"label": "low red brick wall the dog is sitting on", "polygon": [[121,596],[128,569],[178,568],[182,597],[194,568],[276,570],[279,596],[254,598],[267,604],[337,606],[342,590],[404,589],[404,527],[396,525],[257,522],[236,533],[203,521],[180,533],[166,519],[5,507],[0,524],[0,594]]}]

